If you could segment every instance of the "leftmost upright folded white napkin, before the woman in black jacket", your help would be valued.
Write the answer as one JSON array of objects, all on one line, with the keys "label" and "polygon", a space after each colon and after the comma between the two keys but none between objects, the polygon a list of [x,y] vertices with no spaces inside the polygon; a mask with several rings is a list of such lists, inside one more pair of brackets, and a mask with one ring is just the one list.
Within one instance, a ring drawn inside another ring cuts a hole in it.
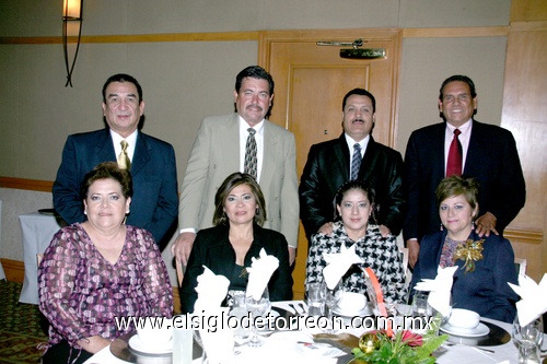
[{"label": "leftmost upright folded white napkin, before the woman in black jacket", "polygon": [[197,280],[198,285],[195,290],[198,293],[198,298],[194,304],[194,312],[198,313],[201,309],[220,307],[222,301],[226,297],[230,280],[224,275],[214,274],[206,266],[203,266],[203,273]]}]

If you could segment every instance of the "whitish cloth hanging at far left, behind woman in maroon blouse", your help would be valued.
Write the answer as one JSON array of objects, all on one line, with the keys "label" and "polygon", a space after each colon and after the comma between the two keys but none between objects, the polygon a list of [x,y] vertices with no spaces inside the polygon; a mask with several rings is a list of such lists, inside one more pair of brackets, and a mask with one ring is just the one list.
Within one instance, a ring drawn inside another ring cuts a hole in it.
[{"label": "whitish cloth hanging at far left, behind woman in maroon blouse", "polygon": [[44,253],[60,228],[53,215],[32,212],[19,215],[23,237],[25,278],[19,302],[38,304],[38,265],[36,255]]}]

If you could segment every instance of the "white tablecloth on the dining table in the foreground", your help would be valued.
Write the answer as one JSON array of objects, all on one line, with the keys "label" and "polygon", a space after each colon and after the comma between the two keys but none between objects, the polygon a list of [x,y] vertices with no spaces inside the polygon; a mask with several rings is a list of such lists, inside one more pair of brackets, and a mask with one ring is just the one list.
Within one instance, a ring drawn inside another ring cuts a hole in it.
[{"label": "white tablecloth on the dining table in the foreground", "polygon": [[[274,303],[275,306],[284,308],[287,310],[293,312],[292,308],[288,306],[287,302]],[[488,320],[488,319],[485,319]],[[503,329],[511,332],[511,325],[491,321]],[[296,341],[303,340],[310,336],[305,332],[281,332],[276,333],[267,339],[265,339],[265,344],[260,348],[248,348],[238,347],[240,352],[235,356],[236,364],[256,364],[256,363],[269,363],[268,359],[275,359],[276,363],[313,363],[313,364],[334,364],[336,360],[322,356],[311,356],[303,355],[296,348]],[[475,348],[469,347],[451,347],[449,350],[438,357],[438,364],[488,364],[488,363],[516,363],[517,361],[517,350],[512,341],[499,345],[499,347],[488,347],[488,349],[496,351],[496,353],[482,352]],[[105,348],[95,355],[93,355],[85,364],[124,364],[127,362],[115,357],[109,348]],[[201,360],[195,360],[194,364],[200,364]]]}]

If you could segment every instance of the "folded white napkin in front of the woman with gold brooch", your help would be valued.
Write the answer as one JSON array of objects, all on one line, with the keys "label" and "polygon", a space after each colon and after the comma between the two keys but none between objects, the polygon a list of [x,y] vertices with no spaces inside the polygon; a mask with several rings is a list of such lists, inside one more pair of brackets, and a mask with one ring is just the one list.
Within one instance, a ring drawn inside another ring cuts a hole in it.
[{"label": "folded white napkin in front of the woman with gold brooch", "polygon": [[454,283],[454,273],[457,266],[442,268],[439,266],[437,269],[437,277],[433,280],[422,279],[421,282],[416,283],[415,290],[429,291],[428,304],[437,309],[443,317],[450,315],[451,305],[450,296],[452,291],[452,283]]}]

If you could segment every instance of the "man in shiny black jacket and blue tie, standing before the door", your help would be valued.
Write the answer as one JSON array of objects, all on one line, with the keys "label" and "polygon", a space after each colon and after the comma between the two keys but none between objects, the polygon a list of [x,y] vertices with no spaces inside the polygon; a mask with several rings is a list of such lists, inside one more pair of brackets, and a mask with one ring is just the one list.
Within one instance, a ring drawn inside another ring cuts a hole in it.
[{"label": "man in shiny black jacket and blue tie, standing before the door", "polygon": [[398,235],[403,225],[403,158],[399,152],[372,138],[376,101],[354,89],[342,101],[344,132],[338,139],[314,144],[300,179],[300,218],[309,242],[312,234],[330,234],[334,198],[349,179],[362,179],[376,191],[375,220],[382,235]]}]

